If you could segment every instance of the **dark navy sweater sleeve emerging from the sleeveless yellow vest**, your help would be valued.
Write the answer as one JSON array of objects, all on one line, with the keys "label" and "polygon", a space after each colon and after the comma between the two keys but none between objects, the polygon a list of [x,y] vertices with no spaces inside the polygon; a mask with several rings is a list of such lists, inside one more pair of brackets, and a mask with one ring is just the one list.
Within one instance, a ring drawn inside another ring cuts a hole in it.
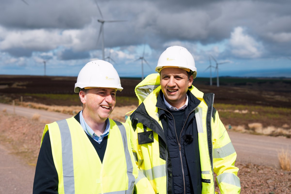
[{"label": "dark navy sweater sleeve emerging from the sleeveless yellow vest", "polygon": [[33,181],[33,194],[34,193],[58,193],[58,173],[54,165],[49,131],[44,135],[38,154],[36,172]]}]

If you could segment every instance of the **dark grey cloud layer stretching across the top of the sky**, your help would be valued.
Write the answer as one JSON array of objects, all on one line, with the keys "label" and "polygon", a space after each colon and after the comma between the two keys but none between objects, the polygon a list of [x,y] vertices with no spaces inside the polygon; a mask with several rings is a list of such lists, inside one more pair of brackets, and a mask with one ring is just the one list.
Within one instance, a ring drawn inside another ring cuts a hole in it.
[{"label": "dark grey cloud layer stretching across the top of the sky", "polygon": [[[17,29],[60,29],[80,32],[67,47],[88,51],[96,46],[100,13],[94,0],[2,0],[0,25]],[[156,51],[164,43],[187,41],[202,45],[228,40],[237,28],[264,47],[264,54],[291,55],[291,1],[225,0],[99,0],[105,47],[147,43]],[[88,27],[89,26],[89,27]],[[29,44],[29,43],[26,43]],[[229,48],[228,54],[232,54]],[[66,58],[66,57],[65,57]],[[70,57],[68,57],[70,58]]]}]

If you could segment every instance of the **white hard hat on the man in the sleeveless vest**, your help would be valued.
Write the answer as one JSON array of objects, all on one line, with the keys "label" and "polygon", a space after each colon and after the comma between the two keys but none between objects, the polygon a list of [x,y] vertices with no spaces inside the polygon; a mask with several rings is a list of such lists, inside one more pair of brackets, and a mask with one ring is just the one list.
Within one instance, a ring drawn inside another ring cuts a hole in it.
[{"label": "white hard hat on the man in the sleeveless vest", "polygon": [[115,88],[121,91],[120,78],[113,65],[104,60],[93,60],[87,63],[80,71],[75,92],[81,88]]}]

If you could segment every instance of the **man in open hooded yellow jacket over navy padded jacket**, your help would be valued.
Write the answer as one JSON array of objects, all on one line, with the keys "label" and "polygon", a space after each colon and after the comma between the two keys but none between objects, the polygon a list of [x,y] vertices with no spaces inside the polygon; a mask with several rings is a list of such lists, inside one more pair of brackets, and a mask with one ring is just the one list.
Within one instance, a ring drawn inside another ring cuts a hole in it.
[{"label": "man in open hooded yellow jacket over navy padded jacket", "polygon": [[192,86],[197,69],[191,53],[167,48],[156,71],[139,83],[139,107],[128,117],[139,175],[156,193],[240,193],[236,152],[213,108],[214,94]]}]

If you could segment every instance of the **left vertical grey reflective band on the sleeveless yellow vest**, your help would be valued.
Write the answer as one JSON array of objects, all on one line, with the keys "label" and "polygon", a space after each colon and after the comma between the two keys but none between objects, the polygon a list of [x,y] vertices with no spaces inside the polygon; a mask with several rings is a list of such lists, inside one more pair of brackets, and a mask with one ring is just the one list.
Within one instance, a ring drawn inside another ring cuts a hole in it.
[{"label": "left vertical grey reflective band on the sleeveless yellow vest", "polygon": [[75,193],[72,138],[67,120],[56,122],[61,133],[64,192]]}]

